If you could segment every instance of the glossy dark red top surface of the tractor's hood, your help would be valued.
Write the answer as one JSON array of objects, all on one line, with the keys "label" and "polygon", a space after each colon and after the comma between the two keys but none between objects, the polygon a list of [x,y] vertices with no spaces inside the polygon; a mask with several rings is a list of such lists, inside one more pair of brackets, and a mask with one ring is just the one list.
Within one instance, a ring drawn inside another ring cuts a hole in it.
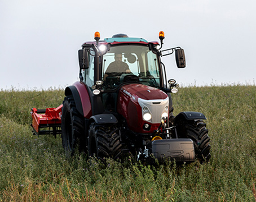
[{"label": "glossy dark red top surface of the tractor's hood", "polygon": [[143,100],[162,100],[168,97],[164,91],[143,84],[125,85],[122,86],[121,91],[135,101],[138,101],[138,98]]}]

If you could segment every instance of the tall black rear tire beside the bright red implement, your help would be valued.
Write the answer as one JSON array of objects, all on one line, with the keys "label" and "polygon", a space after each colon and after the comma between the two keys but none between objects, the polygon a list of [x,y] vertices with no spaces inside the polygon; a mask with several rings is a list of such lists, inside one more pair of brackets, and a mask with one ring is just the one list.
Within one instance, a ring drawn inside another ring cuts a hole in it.
[{"label": "tall black rear tire beside the bright red implement", "polygon": [[70,155],[78,149],[82,151],[85,146],[85,121],[77,111],[72,95],[65,97],[61,116],[61,139],[63,148]]}]

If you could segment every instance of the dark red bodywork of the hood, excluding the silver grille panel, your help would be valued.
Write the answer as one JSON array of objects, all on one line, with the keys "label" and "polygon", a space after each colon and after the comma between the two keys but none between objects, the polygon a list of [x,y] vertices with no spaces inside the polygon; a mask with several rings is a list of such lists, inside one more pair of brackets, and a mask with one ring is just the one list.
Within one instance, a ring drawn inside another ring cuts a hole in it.
[{"label": "dark red bodywork of the hood, excluding the silver grille panel", "polygon": [[[143,121],[142,108],[138,103],[138,98],[146,100],[166,99],[167,95],[162,90],[143,84],[125,85],[122,86],[119,91],[117,112],[126,118],[126,122],[130,130],[139,133],[152,133],[154,130],[157,130],[160,122],[152,124]],[[149,123],[151,125],[151,129],[149,131],[143,129],[145,123]]]}]

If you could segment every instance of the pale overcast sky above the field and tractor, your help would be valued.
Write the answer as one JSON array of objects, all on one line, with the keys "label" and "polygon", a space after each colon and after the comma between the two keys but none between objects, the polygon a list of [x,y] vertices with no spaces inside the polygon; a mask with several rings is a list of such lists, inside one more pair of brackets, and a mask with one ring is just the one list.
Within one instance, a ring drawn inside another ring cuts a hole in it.
[{"label": "pale overcast sky above the field and tractor", "polygon": [[182,47],[187,67],[162,57],[182,86],[255,85],[255,0],[0,0],[0,89],[65,88],[78,80],[78,49],[125,33]]}]

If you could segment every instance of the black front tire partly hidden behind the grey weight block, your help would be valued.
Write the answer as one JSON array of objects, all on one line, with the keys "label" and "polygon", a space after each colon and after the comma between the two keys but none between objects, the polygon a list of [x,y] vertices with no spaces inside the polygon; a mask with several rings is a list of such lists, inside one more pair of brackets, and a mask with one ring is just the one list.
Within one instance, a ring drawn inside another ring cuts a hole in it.
[{"label": "black front tire partly hidden behind the grey weight block", "polygon": [[206,123],[202,120],[183,120],[176,124],[176,129],[179,138],[189,138],[193,141],[196,158],[200,162],[208,162],[211,157],[211,146]]}]

